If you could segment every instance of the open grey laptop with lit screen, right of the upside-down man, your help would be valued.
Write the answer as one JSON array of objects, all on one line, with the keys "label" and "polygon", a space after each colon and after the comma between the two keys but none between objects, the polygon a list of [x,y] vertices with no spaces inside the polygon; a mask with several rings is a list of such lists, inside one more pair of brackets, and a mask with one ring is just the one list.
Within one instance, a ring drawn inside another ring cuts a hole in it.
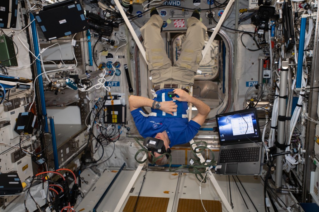
[{"label": "open grey laptop with lit screen, right of the upside-down man", "polygon": [[257,109],[216,115],[220,153],[217,174],[261,175],[264,149]]}]

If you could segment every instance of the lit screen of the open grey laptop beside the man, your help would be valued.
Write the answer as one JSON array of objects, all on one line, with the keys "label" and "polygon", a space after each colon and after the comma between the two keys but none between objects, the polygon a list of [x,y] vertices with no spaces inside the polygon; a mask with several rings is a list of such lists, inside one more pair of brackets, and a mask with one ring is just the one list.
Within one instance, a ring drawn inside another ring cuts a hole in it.
[{"label": "lit screen of the open grey laptop beside the man", "polygon": [[216,122],[221,145],[229,141],[261,141],[256,108],[219,114]]}]

